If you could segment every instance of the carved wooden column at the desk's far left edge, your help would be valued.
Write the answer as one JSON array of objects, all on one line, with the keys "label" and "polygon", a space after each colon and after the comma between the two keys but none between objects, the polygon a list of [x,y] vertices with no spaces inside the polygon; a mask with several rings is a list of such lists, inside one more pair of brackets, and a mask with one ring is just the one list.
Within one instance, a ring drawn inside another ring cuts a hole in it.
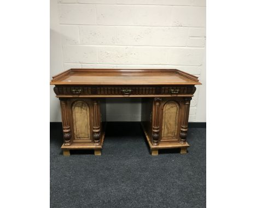
[{"label": "carved wooden column at the desk's far left edge", "polygon": [[60,104],[61,104],[61,120],[62,120],[64,145],[68,146],[68,145],[71,145],[71,130],[70,130],[69,119],[68,119],[67,100],[60,99]]}]

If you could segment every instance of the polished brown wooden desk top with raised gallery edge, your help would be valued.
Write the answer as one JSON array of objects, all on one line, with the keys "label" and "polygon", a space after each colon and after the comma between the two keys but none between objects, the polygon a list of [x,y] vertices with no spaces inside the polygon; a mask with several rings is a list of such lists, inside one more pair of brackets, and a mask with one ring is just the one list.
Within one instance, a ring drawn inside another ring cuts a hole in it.
[{"label": "polished brown wooden desk top with raised gallery edge", "polygon": [[69,69],[51,85],[195,85],[196,76],[177,69]]}]

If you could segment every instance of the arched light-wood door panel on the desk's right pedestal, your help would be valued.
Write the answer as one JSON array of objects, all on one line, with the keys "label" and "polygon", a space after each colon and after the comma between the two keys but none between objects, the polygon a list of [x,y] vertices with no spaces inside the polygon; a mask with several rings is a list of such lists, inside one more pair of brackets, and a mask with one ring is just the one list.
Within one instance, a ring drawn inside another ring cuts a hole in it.
[{"label": "arched light-wood door panel on the desk's right pedestal", "polygon": [[179,102],[169,100],[162,105],[161,142],[179,139],[179,120],[181,106]]}]

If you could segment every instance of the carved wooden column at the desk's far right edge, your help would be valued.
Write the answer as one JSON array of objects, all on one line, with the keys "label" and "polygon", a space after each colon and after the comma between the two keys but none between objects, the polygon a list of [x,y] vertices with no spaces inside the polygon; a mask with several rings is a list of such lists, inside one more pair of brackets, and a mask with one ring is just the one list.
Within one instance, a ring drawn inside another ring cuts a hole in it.
[{"label": "carved wooden column at the desk's far right edge", "polygon": [[181,126],[181,133],[179,134],[181,137],[181,141],[179,143],[185,144],[187,142],[187,132],[188,132],[188,118],[189,118],[189,106],[191,97],[184,98],[184,118],[183,124]]}]

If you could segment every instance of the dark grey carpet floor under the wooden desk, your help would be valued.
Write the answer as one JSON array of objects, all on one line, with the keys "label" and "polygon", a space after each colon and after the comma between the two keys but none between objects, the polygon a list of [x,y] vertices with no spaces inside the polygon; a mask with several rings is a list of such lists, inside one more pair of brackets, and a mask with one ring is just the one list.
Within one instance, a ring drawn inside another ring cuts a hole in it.
[{"label": "dark grey carpet floor under the wooden desk", "polygon": [[206,207],[206,129],[190,128],[187,155],[151,156],[139,123],[108,123],[101,156],[62,156],[50,129],[50,207]]}]

